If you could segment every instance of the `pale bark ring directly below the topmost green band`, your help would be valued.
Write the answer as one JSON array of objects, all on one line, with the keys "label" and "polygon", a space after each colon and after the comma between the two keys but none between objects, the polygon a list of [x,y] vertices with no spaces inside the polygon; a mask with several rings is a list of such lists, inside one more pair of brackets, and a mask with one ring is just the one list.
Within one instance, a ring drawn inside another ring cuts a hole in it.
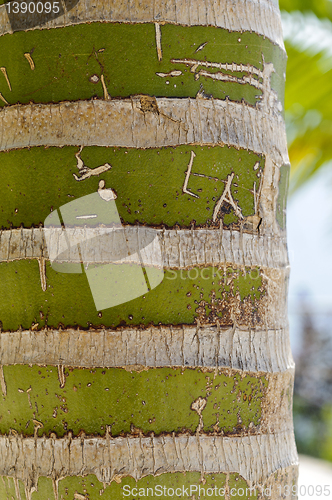
[{"label": "pale bark ring directly below the topmost green band", "polygon": [[140,97],[133,97],[6,106],[0,111],[0,150],[228,144],[268,154],[280,166],[289,163],[280,114],[228,100],[157,98],[155,105],[155,111],[144,111]]}]

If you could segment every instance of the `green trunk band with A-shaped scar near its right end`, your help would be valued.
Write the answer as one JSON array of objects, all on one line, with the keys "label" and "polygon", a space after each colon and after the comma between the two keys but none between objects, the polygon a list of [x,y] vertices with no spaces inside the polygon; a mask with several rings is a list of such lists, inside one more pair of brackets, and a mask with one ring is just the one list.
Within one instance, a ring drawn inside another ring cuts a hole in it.
[{"label": "green trunk band with A-shaped scar near its right end", "polygon": [[[243,217],[255,214],[254,194],[257,202],[265,160],[250,151],[228,146],[145,150],[86,147],[81,159],[87,167],[94,169],[108,163],[111,168],[81,181],[73,175],[81,176],[75,157],[78,151],[75,147],[35,147],[0,153],[0,226],[31,227],[44,223],[52,210],[96,193],[100,178],[105,180],[106,188],[115,191],[116,208],[126,224],[219,227],[220,218],[224,218],[225,226],[233,223],[236,227],[241,219],[227,202],[221,204],[214,217],[228,176],[233,173],[230,190],[234,204]],[[196,156],[192,158],[193,154]],[[233,220],[227,220],[229,215]],[[93,222],[90,220],[89,226]],[[107,220],[98,219],[100,222]],[[86,224],[86,220],[76,220],[76,225]]]}]

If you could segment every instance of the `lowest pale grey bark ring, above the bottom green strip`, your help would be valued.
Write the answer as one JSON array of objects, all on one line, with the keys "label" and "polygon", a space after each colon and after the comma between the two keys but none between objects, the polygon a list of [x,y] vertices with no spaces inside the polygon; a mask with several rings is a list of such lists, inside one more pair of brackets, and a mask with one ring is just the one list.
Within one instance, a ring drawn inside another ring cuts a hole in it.
[{"label": "lowest pale grey bark ring, above the bottom green strip", "polygon": [[297,463],[292,431],[245,437],[0,437],[0,474],[22,480],[28,490],[41,476],[59,480],[95,474],[99,481],[110,483],[118,476],[139,480],[185,471],[238,472],[260,484],[278,469]]}]

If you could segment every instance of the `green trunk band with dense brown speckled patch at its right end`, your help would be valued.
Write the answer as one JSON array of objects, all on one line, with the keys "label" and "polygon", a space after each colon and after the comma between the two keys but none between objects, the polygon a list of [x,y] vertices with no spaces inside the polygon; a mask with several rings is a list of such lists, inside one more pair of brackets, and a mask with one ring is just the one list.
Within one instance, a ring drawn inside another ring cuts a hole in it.
[{"label": "green trunk band with dense brown speckled patch at its right end", "polygon": [[[116,287],[126,286],[123,285],[127,278],[126,268],[121,267],[123,280]],[[35,260],[2,263],[0,275],[0,321],[4,330],[17,330],[20,325],[23,329],[32,325],[41,329],[58,325],[114,328],[194,324],[198,318],[202,324],[228,326],[234,323],[234,315],[237,324],[264,324],[260,299],[266,290],[257,268],[166,270],[163,281],[150,292],[99,313],[85,273],[56,272],[47,263],[45,292]],[[105,282],[105,287],[105,293],[112,300],[114,283]]]}]

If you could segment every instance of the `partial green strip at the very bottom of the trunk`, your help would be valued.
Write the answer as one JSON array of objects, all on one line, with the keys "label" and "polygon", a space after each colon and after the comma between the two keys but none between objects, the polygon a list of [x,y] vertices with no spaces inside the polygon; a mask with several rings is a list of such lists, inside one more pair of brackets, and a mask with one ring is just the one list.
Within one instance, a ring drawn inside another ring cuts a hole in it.
[{"label": "partial green strip at the very bottom of the trunk", "polygon": [[[228,493],[225,491],[227,487]],[[198,496],[199,488],[201,488],[200,496]],[[16,496],[14,481],[11,478],[3,477],[0,479],[1,498],[27,500],[24,485],[21,481],[19,481],[19,489],[21,498]],[[172,494],[172,489],[178,489],[179,495],[176,494],[176,491]],[[146,497],[160,498],[160,500],[169,500],[170,498],[192,499],[193,495],[196,495],[197,498],[226,500],[229,498],[231,490],[231,498],[234,500],[243,500],[244,498],[257,500],[258,498],[258,490],[255,488],[250,489],[245,479],[237,473],[228,475],[224,473],[204,474],[204,481],[202,481],[202,475],[199,472],[165,473],[159,476],[147,476],[137,482],[131,477],[125,477],[121,479],[121,482],[113,481],[110,485],[101,483],[94,475],[64,478],[58,483],[58,498],[71,500],[77,498],[75,497],[76,493],[76,495],[82,495],[82,498],[89,500],[118,500],[125,498],[132,500],[133,498]],[[38,490],[32,493],[31,500],[55,500],[52,480],[44,477],[39,478]]]}]

